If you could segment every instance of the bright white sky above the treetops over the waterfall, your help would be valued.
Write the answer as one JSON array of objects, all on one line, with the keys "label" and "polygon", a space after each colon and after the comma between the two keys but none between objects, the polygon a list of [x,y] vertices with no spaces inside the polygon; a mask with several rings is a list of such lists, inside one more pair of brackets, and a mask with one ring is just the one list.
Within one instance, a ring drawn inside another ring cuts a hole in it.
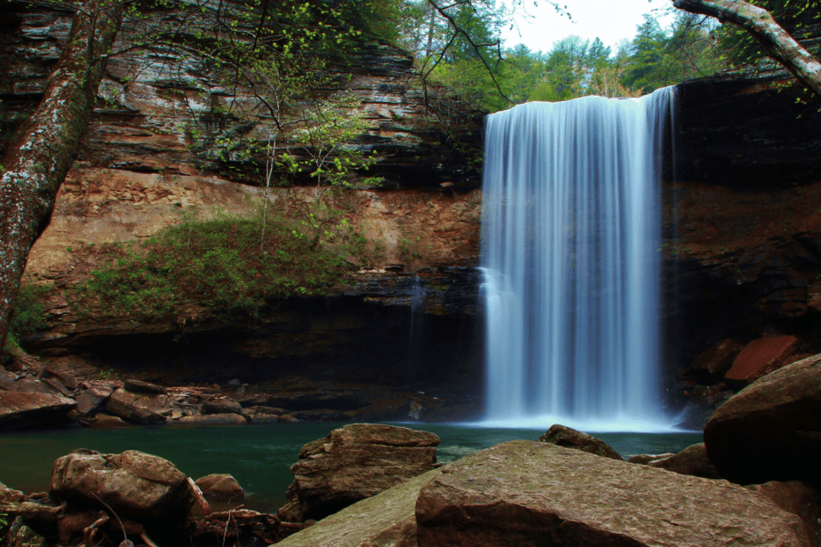
[{"label": "bright white sky above the treetops over the waterfall", "polygon": [[[572,20],[555,11],[553,5],[544,0],[523,0],[518,12],[527,12],[532,17],[515,18],[516,27],[505,28],[502,38],[505,46],[524,44],[530,51],[549,52],[554,42],[570,35],[578,35],[591,42],[598,37],[612,52],[618,50],[620,40],[632,40],[636,27],[644,21],[642,15],[658,10],[658,14],[670,6],[670,0],[558,0],[557,4],[567,5]],[[510,3],[510,0],[506,0]],[[672,15],[660,17],[662,27],[673,21]],[[521,36],[520,36],[521,35]]]}]

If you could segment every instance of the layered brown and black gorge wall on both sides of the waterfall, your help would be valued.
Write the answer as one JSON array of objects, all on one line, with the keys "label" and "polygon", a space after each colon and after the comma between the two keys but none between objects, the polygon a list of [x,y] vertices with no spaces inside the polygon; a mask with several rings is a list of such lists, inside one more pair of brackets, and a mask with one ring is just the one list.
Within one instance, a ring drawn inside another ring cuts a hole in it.
[{"label": "layered brown and black gorge wall on both sides of the waterfall", "polygon": [[[0,20],[0,134],[9,136],[42,94],[70,14],[7,3]],[[109,63],[83,150],[28,260],[25,281],[57,289],[49,328],[22,345],[55,368],[88,375],[238,378],[287,394],[300,409],[406,416],[415,398],[414,408],[426,406],[416,413],[422,419],[475,415],[482,113],[447,91],[425,90],[410,57],[389,44],[363,44],[354,62],[335,68],[350,73],[344,89],[361,100],[368,128],[356,144],[378,157],[368,174],[386,184],[334,199],[379,245],[378,258],[355,263],[330,297],[275,300],[263,322],[219,321],[194,306],[182,323],[197,323],[192,330],[179,321],[85,317],[69,305],[63,293],[96,267],[79,249],[144,239],[180,218],[252,215],[265,195],[259,158],[225,161],[208,139],[220,123],[249,122],[218,119],[213,106],[225,102],[225,85],[197,59],[172,59],[184,69],[171,74],[149,62],[152,54],[135,50]],[[796,102],[800,90],[777,73],[708,78],[677,93],[659,253],[664,367],[670,404],[680,408],[699,397],[713,405],[743,384],[725,380],[724,365],[690,366],[726,339],[730,363],[772,335],[796,337],[795,355],[821,352],[821,115],[817,101]],[[310,199],[304,180],[280,180],[285,186],[268,194],[273,208]]]}]

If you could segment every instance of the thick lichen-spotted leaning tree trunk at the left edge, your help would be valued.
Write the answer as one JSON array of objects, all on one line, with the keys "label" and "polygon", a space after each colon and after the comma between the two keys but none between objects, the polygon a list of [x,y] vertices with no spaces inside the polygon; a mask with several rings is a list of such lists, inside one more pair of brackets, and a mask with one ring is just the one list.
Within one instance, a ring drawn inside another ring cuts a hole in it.
[{"label": "thick lichen-spotted leaning tree trunk at the left edge", "polygon": [[122,4],[116,0],[84,0],[78,5],[43,99],[0,163],[0,349],[28,251],[52,217],[122,19]]}]

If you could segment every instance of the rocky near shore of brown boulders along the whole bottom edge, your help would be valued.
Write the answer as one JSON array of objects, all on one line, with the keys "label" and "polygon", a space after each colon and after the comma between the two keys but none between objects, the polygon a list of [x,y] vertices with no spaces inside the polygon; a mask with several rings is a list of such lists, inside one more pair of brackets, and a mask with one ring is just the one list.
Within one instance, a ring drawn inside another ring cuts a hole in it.
[{"label": "rocky near shore of brown boulders along the whole bottom edge", "polygon": [[539,440],[441,465],[431,433],[348,424],[300,450],[277,514],[211,511],[209,498],[241,498],[228,477],[195,481],[157,456],[81,449],[55,462],[48,493],[0,488],[10,521],[0,534],[14,546],[815,547],[817,416],[821,354],[724,403],[705,443],[627,462],[601,440],[554,425]]}]

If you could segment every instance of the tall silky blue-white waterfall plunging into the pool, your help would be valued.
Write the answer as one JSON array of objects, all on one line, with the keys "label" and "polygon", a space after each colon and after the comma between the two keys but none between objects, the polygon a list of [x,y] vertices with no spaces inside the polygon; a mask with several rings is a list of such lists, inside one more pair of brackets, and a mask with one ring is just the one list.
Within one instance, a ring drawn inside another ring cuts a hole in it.
[{"label": "tall silky blue-white waterfall plunging into the pool", "polygon": [[482,211],[490,424],[664,429],[661,148],[672,89],[488,116]]}]

